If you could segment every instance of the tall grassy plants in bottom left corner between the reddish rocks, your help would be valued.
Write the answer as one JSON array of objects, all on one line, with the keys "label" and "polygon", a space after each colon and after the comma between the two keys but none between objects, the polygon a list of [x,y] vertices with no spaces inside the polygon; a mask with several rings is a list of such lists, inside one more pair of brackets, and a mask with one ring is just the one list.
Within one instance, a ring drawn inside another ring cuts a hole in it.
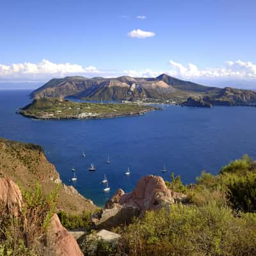
[{"label": "tall grassy plants in bottom left corner between the reddish rocks", "polygon": [[21,191],[23,203],[20,212],[15,205],[0,205],[0,255],[47,255],[46,231],[55,211],[58,186],[47,196],[42,195],[37,183],[33,193],[31,190]]}]

